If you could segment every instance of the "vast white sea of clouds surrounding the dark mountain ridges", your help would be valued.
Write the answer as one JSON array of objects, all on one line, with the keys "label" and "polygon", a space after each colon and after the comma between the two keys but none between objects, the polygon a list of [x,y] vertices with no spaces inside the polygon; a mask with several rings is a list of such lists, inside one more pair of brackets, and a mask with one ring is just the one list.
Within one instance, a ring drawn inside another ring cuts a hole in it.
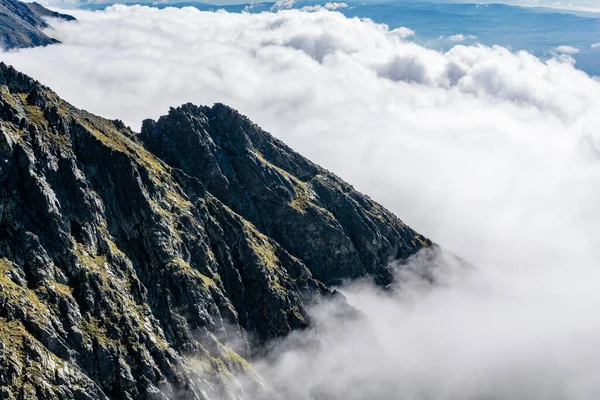
[{"label": "vast white sea of clouds surrounding the dark mountain ridges", "polygon": [[323,305],[318,345],[257,364],[285,398],[599,398],[600,83],[568,52],[440,53],[325,7],[74,14],[0,60],[136,130],[231,105],[476,266],[342,288],[366,319]]}]

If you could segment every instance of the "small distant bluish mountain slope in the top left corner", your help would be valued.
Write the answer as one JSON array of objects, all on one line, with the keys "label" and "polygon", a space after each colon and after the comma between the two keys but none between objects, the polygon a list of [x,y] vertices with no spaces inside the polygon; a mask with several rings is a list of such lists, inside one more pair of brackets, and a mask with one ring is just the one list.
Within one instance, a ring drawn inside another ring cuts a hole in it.
[{"label": "small distant bluish mountain slope in the top left corner", "polygon": [[39,3],[23,3],[18,0],[0,0],[0,49],[46,46],[58,43],[42,29],[48,24],[45,17],[72,21],[70,15],[60,14]]}]

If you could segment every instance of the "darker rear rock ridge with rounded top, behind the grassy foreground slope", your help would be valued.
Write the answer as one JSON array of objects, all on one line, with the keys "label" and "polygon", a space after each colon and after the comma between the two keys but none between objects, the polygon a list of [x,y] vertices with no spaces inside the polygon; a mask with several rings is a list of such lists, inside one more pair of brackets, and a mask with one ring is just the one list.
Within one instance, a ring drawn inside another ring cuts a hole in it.
[{"label": "darker rear rock ridge with rounded top, behind the grassy foreground slope", "polygon": [[167,164],[304,260],[328,285],[372,275],[392,280],[390,261],[431,242],[329,171],[295,153],[235,110],[186,104],[141,138]]}]

